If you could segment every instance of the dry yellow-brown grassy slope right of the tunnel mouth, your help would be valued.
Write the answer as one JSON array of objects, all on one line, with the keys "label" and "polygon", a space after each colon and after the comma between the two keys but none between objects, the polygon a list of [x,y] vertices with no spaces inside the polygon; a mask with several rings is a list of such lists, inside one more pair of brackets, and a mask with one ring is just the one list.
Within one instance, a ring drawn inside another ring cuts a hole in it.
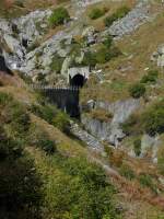
[{"label": "dry yellow-brown grassy slope right of the tunnel mouth", "polygon": [[[95,80],[90,80],[89,89],[84,89],[82,92],[83,101],[94,97],[105,101],[126,99],[129,96],[129,85],[139,81],[147,73],[144,69],[148,67],[150,69],[156,68],[156,65],[150,61],[150,57],[164,42],[163,5],[154,3],[151,11],[159,13],[156,19],[142,25],[130,36],[125,36],[122,41],[116,42],[122,55],[101,66],[106,82],[98,84]],[[160,69],[160,81],[164,81],[163,70]],[[148,90],[148,96],[151,94],[162,96],[164,94],[162,83],[159,88],[153,90],[149,88]]]}]

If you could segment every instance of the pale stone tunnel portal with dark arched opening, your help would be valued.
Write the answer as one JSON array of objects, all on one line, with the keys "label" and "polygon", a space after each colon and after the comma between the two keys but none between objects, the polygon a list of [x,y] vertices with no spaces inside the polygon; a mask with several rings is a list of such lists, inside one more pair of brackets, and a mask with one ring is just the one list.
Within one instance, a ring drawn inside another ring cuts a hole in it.
[{"label": "pale stone tunnel portal with dark arched opening", "polygon": [[83,87],[85,81],[89,79],[90,68],[70,68],[68,70],[68,83],[73,87]]}]

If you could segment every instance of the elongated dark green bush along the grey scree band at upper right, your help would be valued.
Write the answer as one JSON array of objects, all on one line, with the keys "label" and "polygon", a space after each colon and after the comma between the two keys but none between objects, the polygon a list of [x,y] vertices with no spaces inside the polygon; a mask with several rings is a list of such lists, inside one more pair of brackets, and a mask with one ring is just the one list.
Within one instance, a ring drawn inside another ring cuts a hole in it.
[{"label": "elongated dark green bush along the grey scree band at upper right", "polygon": [[114,14],[112,14],[110,16],[107,16],[104,20],[105,25],[110,26],[114,23],[114,21],[122,19],[127,13],[129,13],[129,11],[130,9],[127,7],[119,8]]}]

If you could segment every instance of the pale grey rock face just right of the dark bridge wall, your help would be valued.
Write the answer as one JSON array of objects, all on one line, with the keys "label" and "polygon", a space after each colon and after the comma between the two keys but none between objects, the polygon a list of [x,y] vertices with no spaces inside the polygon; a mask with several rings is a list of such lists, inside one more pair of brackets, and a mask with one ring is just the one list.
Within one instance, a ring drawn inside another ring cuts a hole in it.
[{"label": "pale grey rock face just right of the dark bridge wall", "polygon": [[119,142],[126,135],[120,128],[120,124],[124,123],[137,108],[140,107],[139,100],[118,101],[115,103],[93,102],[89,107],[103,108],[106,112],[112,113],[113,119],[108,123],[99,122],[96,118],[91,118],[86,115],[82,115],[82,123],[86,130],[92,135],[98,137],[101,140],[105,140],[115,147],[119,146]]}]

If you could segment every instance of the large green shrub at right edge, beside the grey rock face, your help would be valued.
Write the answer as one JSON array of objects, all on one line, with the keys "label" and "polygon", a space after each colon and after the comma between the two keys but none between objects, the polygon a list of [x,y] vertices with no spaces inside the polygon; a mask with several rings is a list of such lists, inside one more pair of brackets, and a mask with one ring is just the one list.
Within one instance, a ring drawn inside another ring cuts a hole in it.
[{"label": "large green shrub at right edge, beside the grey rock face", "polygon": [[143,129],[151,136],[164,132],[164,101],[150,106],[142,115]]}]

